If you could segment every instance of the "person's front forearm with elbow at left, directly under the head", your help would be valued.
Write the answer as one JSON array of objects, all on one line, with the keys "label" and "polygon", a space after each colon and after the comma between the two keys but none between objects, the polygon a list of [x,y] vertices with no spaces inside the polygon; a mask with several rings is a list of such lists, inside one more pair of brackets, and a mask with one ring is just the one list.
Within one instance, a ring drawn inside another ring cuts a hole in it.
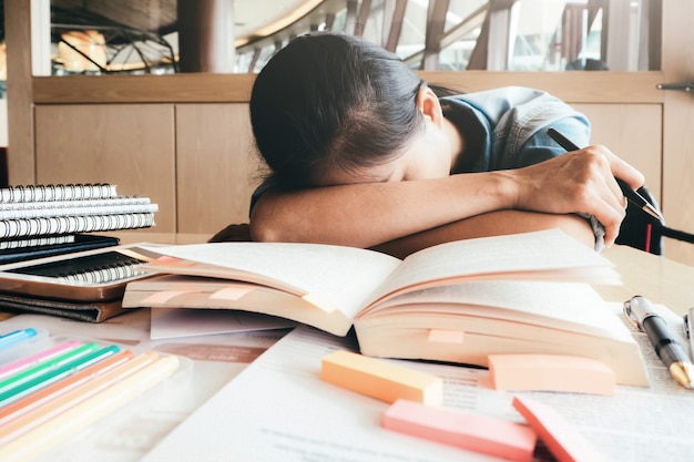
[{"label": "person's front forearm with elbow at left, directly under the head", "polygon": [[253,209],[254,240],[372,247],[479,214],[511,208],[512,178],[499,173],[298,192],[268,191]]}]

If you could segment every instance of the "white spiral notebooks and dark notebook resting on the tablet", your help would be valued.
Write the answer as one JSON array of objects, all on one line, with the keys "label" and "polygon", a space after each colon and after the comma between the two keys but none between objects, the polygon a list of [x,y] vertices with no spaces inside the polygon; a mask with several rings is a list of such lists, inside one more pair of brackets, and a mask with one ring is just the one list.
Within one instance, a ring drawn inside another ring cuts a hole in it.
[{"label": "white spiral notebooks and dark notebook resting on the tablet", "polygon": [[85,233],[151,227],[155,212],[149,197],[111,184],[0,188],[0,264],[116,245]]}]

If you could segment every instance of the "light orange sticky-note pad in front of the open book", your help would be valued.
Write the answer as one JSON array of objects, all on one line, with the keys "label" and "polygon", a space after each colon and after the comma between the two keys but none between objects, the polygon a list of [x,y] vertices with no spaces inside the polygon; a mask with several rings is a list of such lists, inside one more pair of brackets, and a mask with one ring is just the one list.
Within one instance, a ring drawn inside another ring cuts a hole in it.
[{"label": "light orange sticky-note pad in front of the open book", "polygon": [[443,381],[430,373],[338,350],[323,358],[320,379],[386,402],[398,399],[440,404]]}]

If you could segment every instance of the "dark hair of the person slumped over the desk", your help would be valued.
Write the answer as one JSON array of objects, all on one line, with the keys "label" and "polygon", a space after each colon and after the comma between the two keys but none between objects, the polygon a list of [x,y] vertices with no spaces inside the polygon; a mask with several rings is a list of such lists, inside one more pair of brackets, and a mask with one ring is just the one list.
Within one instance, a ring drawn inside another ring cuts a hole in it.
[{"label": "dark hair of the person slumped over the desk", "polygon": [[396,54],[328,32],[302,35],[256,78],[251,123],[278,184],[316,184],[328,168],[388,162],[421,130],[423,82]]}]

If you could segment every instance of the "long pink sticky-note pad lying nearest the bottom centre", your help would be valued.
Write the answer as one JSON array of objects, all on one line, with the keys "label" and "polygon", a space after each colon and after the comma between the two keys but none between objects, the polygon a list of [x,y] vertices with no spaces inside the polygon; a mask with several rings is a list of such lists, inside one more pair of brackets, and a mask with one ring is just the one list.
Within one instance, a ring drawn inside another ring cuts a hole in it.
[{"label": "long pink sticky-note pad lying nearest the bottom centre", "polygon": [[511,461],[532,461],[538,440],[528,425],[447,408],[398,400],[382,427],[412,437],[482,452]]}]

